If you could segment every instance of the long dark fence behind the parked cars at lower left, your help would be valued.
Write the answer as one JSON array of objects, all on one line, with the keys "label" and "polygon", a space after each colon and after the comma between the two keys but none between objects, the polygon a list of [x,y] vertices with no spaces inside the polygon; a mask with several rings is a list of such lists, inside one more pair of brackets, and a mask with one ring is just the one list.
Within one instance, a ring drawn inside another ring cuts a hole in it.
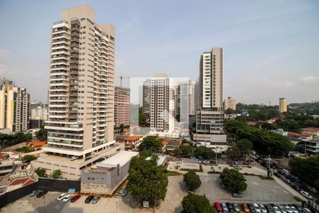
[{"label": "long dark fence behind the parked cars at lower left", "polygon": [[30,192],[36,189],[67,192],[69,188],[75,188],[77,192],[80,192],[81,182],[79,180],[39,178],[38,182],[34,182],[33,184],[18,188],[11,192],[6,192],[4,195],[0,195],[0,208],[4,207],[10,202],[20,199],[21,197],[29,195]]}]

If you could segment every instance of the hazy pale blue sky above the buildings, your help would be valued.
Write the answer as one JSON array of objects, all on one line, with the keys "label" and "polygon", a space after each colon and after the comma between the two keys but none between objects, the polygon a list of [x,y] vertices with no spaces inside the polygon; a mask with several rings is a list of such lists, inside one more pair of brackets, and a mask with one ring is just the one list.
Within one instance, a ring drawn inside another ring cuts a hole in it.
[{"label": "hazy pale blue sky above the buildings", "polygon": [[46,101],[52,23],[81,4],[94,8],[96,23],[116,27],[116,76],[164,72],[196,80],[201,53],[220,47],[224,97],[245,104],[319,100],[316,0],[1,0],[0,77]]}]

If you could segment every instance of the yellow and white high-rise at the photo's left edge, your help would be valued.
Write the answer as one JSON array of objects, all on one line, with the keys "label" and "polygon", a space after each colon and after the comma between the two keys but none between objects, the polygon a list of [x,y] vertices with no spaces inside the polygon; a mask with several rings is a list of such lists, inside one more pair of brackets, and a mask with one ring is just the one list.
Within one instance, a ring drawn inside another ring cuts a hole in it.
[{"label": "yellow and white high-rise at the photo's left edge", "polygon": [[26,88],[2,86],[0,89],[0,129],[26,131],[29,125],[29,107],[30,94]]}]

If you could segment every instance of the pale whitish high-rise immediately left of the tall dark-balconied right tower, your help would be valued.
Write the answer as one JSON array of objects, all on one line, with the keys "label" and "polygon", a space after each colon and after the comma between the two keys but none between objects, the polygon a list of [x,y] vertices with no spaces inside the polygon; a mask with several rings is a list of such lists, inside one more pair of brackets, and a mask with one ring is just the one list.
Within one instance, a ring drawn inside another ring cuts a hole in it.
[{"label": "pale whitish high-rise immediately left of the tall dark-balconied right tower", "polygon": [[[195,87],[195,82],[189,80],[179,82],[175,90],[175,114],[183,121],[196,114]],[[181,116],[187,116],[187,118],[181,118]]]}]

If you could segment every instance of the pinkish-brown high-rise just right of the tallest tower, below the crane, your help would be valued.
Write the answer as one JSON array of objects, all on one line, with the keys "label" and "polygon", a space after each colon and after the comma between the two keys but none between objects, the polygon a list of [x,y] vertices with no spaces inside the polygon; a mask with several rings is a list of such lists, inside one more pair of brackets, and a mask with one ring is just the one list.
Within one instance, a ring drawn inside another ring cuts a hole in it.
[{"label": "pinkish-brown high-rise just right of the tallest tower, below the crane", "polygon": [[115,87],[114,128],[130,126],[130,88]]}]

